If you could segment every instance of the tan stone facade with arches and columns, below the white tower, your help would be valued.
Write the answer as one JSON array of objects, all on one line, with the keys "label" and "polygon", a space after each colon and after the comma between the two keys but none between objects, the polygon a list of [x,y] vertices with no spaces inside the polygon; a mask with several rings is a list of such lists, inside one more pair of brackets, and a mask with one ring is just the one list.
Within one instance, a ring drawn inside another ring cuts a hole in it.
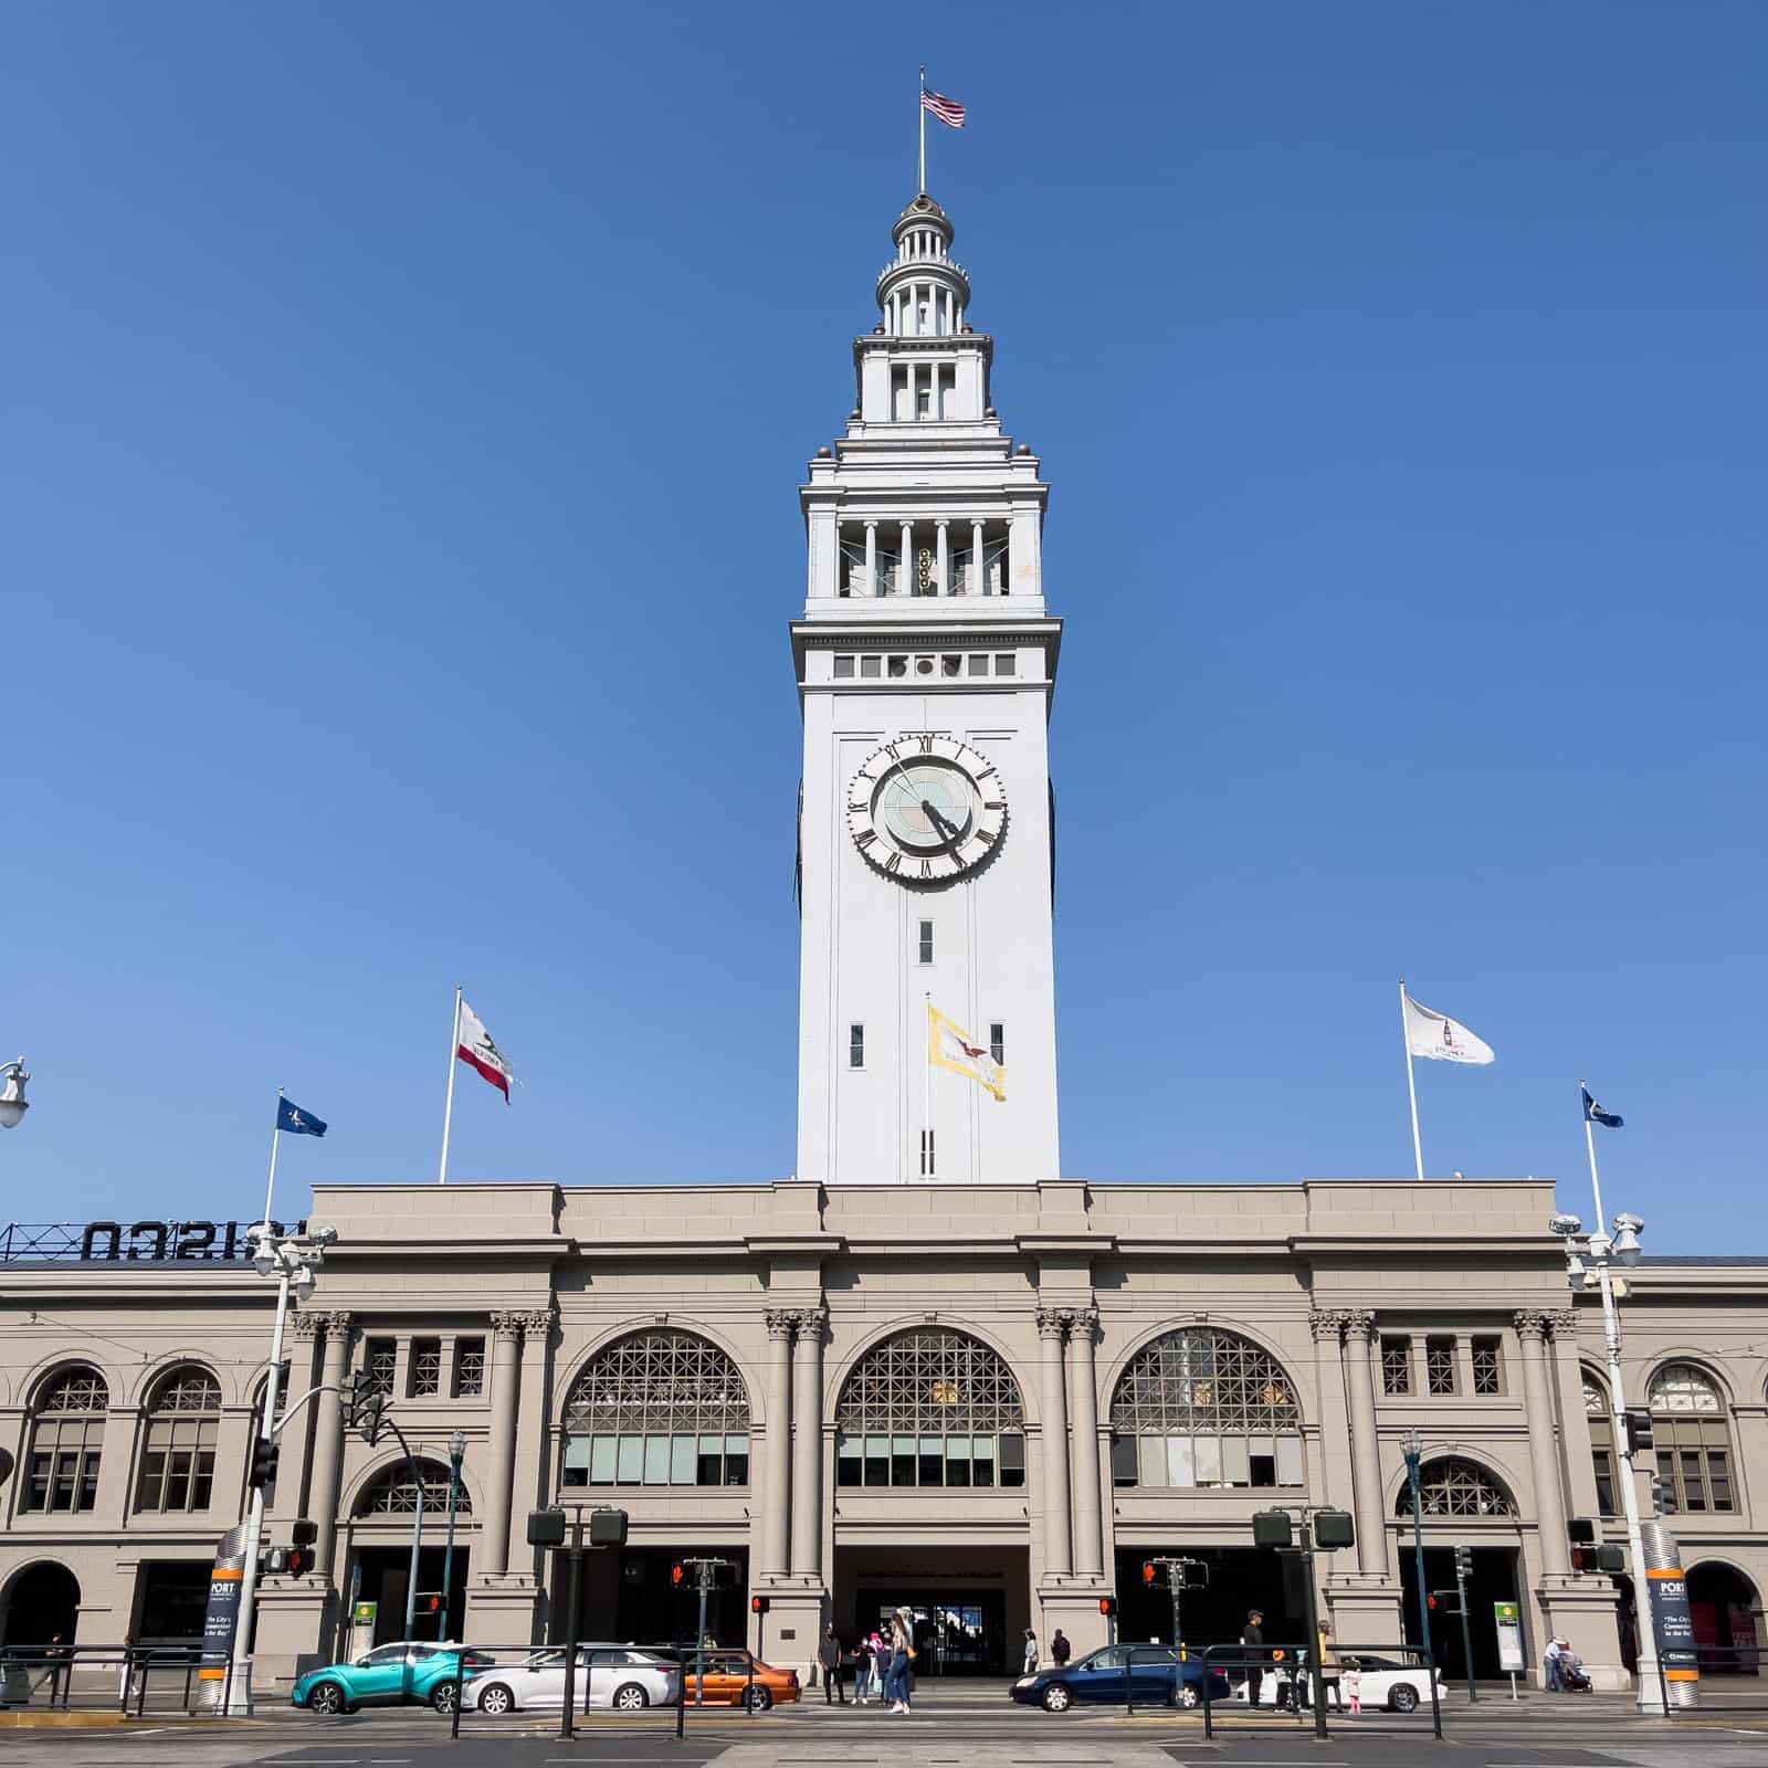
[{"label": "tan stone facade with arches and columns, below the white tower", "polygon": [[[1618,1685],[1616,1586],[1570,1570],[1565,1526],[1614,1503],[1586,1413],[1600,1314],[1574,1307],[1551,1211],[1533,1179],[325,1186],[311,1218],[339,1241],[290,1335],[292,1393],[373,1363],[428,1462],[463,1432],[454,1635],[557,1630],[527,1512],[615,1503],[631,1542],[592,1566],[591,1634],[661,1637],[670,1556],[718,1554],[741,1581],[725,1632],[746,1618],[764,1655],[801,1667],[824,1619],[850,1634],[896,1600],[939,1616],[951,1669],[1004,1669],[1025,1625],[1096,1644],[1109,1593],[1126,1632],[1163,1634],[1165,1609],[1132,1588],[1155,1552],[1213,1566],[1193,1641],[1231,1637],[1252,1600],[1298,1627],[1299,1570],[1257,1556],[1250,1520],[1301,1503],[1356,1517],[1356,1549],[1319,1561],[1340,1642],[1398,1641],[1416,1427],[1427,1586],[1450,1582],[1446,1549],[1475,1547],[1482,1641],[1485,1598],[1520,1598],[1533,1660],[1559,1630]],[[1768,1579],[1763,1276],[1646,1264],[1623,1303],[1634,1393],[1671,1370],[1665,1404],[1687,1406],[1662,1466],[1727,1637]],[[187,1634],[246,1499],[271,1298],[244,1266],[0,1264],[0,1637],[35,1641],[69,1581],[80,1641]],[[578,1386],[591,1365],[606,1381]],[[69,1388],[69,1370],[101,1388]],[[690,1391],[695,1418],[677,1406]],[[1165,1414],[1183,1414],[1170,1436]],[[322,1395],[283,1444],[269,1538],[304,1515],[320,1547],[311,1575],[263,1586],[263,1685],[338,1648],[359,1570],[403,1591],[410,1540],[384,1501],[403,1466],[391,1441],[348,1437]],[[209,1457],[205,1485],[180,1455]],[[426,1519],[426,1554],[440,1524]],[[751,1591],[771,1598],[762,1621]],[[398,1637],[389,1621],[380,1637]]]}]

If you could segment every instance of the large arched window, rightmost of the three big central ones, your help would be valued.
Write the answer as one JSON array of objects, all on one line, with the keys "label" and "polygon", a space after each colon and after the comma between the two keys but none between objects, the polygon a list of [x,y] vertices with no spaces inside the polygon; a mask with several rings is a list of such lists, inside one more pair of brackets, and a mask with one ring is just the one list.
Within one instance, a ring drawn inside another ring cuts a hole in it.
[{"label": "large arched window, rightmost of the three big central ones", "polygon": [[1276,1358],[1216,1326],[1162,1333],[1110,1400],[1114,1485],[1303,1485],[1301,1407]]}]

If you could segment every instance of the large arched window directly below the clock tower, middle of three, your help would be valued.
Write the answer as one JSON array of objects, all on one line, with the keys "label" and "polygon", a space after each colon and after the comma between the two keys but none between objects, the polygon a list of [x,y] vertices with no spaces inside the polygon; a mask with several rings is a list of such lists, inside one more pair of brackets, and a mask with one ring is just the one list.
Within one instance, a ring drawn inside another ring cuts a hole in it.
[{"label": "large arched window directly below the clock tower, middle of three", "polygon": [[1025,1407],[995,1351],[916,1326],[854,1365],[834,1402],[838,1485],[1024,1485]]}]

